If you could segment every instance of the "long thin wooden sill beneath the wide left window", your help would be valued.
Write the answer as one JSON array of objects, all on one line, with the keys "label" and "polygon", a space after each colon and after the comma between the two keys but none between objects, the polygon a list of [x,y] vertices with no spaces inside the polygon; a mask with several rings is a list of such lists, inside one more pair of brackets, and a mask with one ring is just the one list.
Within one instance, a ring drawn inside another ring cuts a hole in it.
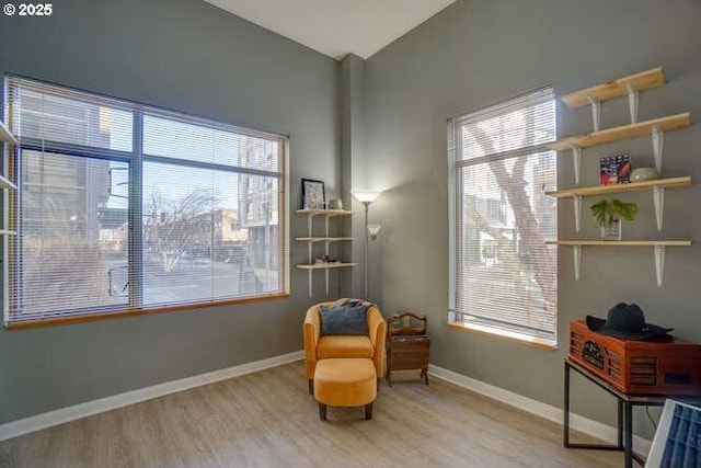
[{"label": "long thin wooden sill beneath the wide left window", "polygon": [[5,328],[8,330],[24,330],[24,329],[54,327],[54,326],[62,326],[62,324],[70,324],[70,323],[93,322],[97,320],[122,319],[127,317],[142,317],[142,316],[150,316],[153,313],[177,312],[182,310],[195,310],[195,309],[205,309],[205,308],[214,308],[214,307],[221,307],[221,306],[233,306],[239,304],[261,303],[264,300],[286,299],[288,297],[289,297],[289,294],[286,293],[286,294],[277,294],[272,296],[246,297],[242,299],[219,300],[219,301],[212,301],[212,303],[186,304],[182,306],[130,309],[130,310],[124,310],[124,311],[113,311],[113,312],[102,312],[102,313],[95,312],[95,313],[85,313],[85,315],[73,316],[73,317],[60,317],[60,318],[48,318],[48,319],[36,319],[36,320],[11,322],[11,323],[5,323]]}]

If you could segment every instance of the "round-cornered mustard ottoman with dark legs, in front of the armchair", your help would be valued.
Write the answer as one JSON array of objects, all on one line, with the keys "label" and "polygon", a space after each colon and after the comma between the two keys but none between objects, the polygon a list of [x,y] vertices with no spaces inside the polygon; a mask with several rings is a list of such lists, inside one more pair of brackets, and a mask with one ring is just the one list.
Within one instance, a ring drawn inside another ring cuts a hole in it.
[{"label": "round-cornered mustard ottoman with dark legs, in front of the armchair", "polygon": [[319,418],[326,421],[326,406],[365,406],[365,419],[372,419],[377,397],[377,375],[372,359],[342,357],[321,359],[314,369],[314,398]]}]

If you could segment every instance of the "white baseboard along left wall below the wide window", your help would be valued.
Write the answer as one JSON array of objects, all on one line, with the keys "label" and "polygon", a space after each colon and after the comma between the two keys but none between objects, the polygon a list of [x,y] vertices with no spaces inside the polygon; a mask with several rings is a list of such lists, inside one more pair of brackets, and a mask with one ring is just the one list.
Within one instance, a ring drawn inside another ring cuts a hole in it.
[{"label": "white baseboard along left wall below the wide window", "polygon": [[232,377],[252,374],[303,358],[304,352],[296,351],[294,353],[283,354],[281,356],[269,357],[267,359],[241,364],[226,369],[166,381],[152,387],[140,388],[138,390],[127,391],[125,393],[114,395],[112,397],[101,398],[99,400],[88,401],[85,403],[12,421],[5,424],[0,424],[0,441],[5,441],[8,438],[16,437],[22,434],[27,434],[30,432],[50,427],[57,424],[76,421],[81,418],[139,403],[141,401],[151,400],[153,398],[163,397],[177,391],[189,390],[191,388],[214,384]]}]

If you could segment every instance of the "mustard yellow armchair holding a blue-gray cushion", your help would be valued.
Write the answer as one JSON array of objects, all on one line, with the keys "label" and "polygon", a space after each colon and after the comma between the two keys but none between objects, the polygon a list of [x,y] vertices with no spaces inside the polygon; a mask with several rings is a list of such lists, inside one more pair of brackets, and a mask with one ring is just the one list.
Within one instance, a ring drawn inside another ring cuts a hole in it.
[{"label": "mustard yellow armchair holding a blue-gray cushion", "polygon": [[313,393],[314,369],[317,362],[332,357],[367,357],[372,359],[377,378],[384,375],[384,343],[387,322],[380,309],[372,305],[366,311],[368,335],[347,335],[321,333],[320,306],[331,307],[334,303],[321,303],[311,306],[304,318],[304,364],[309,392]]}]

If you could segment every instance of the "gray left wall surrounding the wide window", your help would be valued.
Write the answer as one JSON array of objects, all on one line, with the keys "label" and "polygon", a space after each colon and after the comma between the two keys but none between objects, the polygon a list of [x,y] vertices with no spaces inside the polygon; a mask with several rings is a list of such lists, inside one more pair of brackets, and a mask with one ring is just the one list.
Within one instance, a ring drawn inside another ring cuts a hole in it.
[{"label": "gray left wall surrounding the wide window", "polygon": [[[62,0],[50,18],[1,15],[0,72],[287,134],[290,208],[302,176],[338,195],[338,62],[202,0]],[[290,237],[306,226],[292,214]],[[306,246],[290,247],[290,263],[304,262]],[[1,330],[0,423],[301,350],[303,313],[326,296],[322,276],[310,298],[306,274],[290,274],[289,299]]]}]

